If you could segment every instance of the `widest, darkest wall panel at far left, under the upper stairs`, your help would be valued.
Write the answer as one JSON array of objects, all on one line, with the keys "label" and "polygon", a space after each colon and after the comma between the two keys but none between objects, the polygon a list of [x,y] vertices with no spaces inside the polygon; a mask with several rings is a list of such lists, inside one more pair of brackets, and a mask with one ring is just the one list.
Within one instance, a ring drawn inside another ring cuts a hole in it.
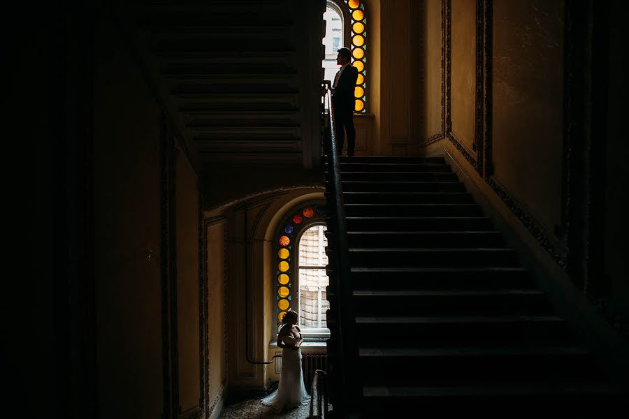
[{"label": "widest, darkest wall panel at far left, under the upper stairs", "polygon": [[159,108],[117,35],[100,29],[94,47],[98,416],[157,419],[163,410]]}]

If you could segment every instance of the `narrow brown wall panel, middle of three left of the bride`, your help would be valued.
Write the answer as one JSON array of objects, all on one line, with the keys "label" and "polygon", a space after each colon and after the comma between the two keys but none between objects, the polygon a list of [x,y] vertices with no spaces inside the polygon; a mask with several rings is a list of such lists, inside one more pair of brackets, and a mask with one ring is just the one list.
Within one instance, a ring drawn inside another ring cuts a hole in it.
[{"label": "narrow brown wall panel, middle of three left of the bride", "polygon": [[177,337],[179,409],[198,406],[199,381],[199,272],[198,185],[185,155],[175,153],[175,215],[177,266]]}]

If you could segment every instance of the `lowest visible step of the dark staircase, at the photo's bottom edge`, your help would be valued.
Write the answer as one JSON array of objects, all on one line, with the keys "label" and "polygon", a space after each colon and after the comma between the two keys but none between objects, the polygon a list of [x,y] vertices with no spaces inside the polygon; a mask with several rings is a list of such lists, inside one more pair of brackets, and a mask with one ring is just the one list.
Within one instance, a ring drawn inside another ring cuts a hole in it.
[{"label": "lowest visible step of the dark staircase, at the photo's bottom edge", "polygon": [[[605,409],[626,409],[626,400],[602,383],[450,383],[431,385],[370,385],[363,389],[363,418],[403,418],[417,409],[439,411],[439,416],[484,418],[531,418],[544,415],[597,418]],[[421,406],[421,408],[419,407]],[[436,409],[436,410],[435,410]]]}]

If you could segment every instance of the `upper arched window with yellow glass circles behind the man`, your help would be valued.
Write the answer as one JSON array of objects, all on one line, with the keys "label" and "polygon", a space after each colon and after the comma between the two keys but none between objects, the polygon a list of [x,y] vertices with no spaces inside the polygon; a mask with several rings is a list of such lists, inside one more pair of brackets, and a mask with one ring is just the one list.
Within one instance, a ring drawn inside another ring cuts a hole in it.
[{"label": "upper arched window with yellow glass circles behind the man", "polygon": [[352,50],[352,66],[359,71],[354,89],[354,112],[367,112],[367,17],[363,0],[327,0],[326,56],[323,61],[324,80],[334,80],[338,71],[336,51]]}]

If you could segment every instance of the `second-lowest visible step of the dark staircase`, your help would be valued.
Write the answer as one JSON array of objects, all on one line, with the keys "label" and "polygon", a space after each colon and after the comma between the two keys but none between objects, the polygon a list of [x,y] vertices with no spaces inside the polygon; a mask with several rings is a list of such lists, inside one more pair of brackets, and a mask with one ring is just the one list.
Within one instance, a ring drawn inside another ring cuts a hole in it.
[{"label": "second-lowest visible step of the dark staircase", "polygon": [[361,348],[359,357],[363,385],[602,380],[594,358],[579,346]]}]

